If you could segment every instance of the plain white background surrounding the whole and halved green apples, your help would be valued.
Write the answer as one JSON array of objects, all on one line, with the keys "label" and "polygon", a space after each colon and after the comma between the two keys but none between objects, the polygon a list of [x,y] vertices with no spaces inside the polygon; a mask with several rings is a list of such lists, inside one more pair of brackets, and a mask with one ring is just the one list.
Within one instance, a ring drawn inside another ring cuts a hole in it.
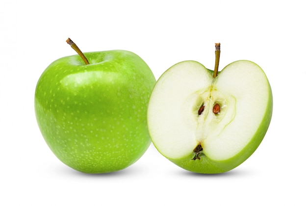
[{"label": "plain white background surrounding the whole and halved green apples", "polygon": [[[1,0],[0,205],[306,205],[306,3],[303,0]],[[156,78],[175,63],[248,59],[273,90],[270,128],[243,164],[193,174],[151,145],[132,166],[82,174],[60,162],[36,124],[34,91],[55,59],[123,49]]]}]

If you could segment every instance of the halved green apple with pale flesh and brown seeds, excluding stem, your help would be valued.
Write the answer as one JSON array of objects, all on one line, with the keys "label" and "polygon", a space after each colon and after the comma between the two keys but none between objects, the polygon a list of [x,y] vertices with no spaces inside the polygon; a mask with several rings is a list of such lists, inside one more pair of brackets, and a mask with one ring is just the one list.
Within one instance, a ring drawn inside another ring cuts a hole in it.
[{"label": "halved green apple with pale flesh and brown seeds, excluding stem", "polygon": [[254,62],[235,61],[217,77],[196,61],[168,69],[154,86],[148,127],[156,149],[196,173],[223,173],[244,162],[271,121],[269,81]]}]

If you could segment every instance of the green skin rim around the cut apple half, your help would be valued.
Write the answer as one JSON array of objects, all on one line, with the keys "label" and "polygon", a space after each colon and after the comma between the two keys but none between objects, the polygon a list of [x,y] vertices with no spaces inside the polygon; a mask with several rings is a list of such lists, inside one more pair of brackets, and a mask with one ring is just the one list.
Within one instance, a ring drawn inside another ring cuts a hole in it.
[{"label": "green skin rim around the cut apple half", "polygon": [[[246,62],[250,62],[250,63],[256,65],[256,63],[248,61],[248,60],[239,60],[239,61],[246,61]],[[239,61],[237,61],[237,62],[239,62]],[[196,62],[196,63],[200,64],[202,67],[204,67],[205,70],[207,70],[208,72],[210,72],[213,75],[212,70],[205,68],[205,66],[203,66],[199,62]],[[236,62],[233,62],[233,63],[236,63]],[[226,66],[225,68],[227,68],[228,66]],[[258,65],[256,65],[256,66],[259,67]],[[172,69],[172,67],[169,70],[171,70],[171,69]],[[259,69],[263,72],[263,70],[260,67],[259,67]],[[168,70],[165,71],[164,74],[166,74],[167,72],[168,72]],[[222,72],[223,72],[223,70],[219,71],[218,74],[221,74]],[[162,76],[164,74],[162,74]],[[264,72],[263,72],[263,74],[264,74]],[[266,80],[267,80],[267,84],[268,84],[268,90],[266,91],[267,94],[268,94],[268,101],[265,102],[265,104],[266,104],[265,115],[263,116],[261,124],[259,125],[258,129],[256,130],[256,133],[254,134],[254,136],[252,137],[250,142],[238,154],[236,154],[236,155],[234,155],[234,156],[232,156],[232,157],[230,157],[226,160],[221,160],[221,161],[210,159],[206,155],[200,155],[200,159],[192,160],[193,157],[195,157],[194,153],[188,154],[188,155],[181,157],[181,158],[172,159],[172,158],[169,158],[169,157],[165,156],[164,154],[162,154],[159,151],[159,149],[156,147],[154,141],[153,141],[153,145],[155,145],[156,149],[162,155],[164,155],[167,159],[169,159],[171,162],[175,163],[179,167],[181,167],[181,168],[183,168],[187,171],[190,171],[190,172],[201,173],[201,174],[218,174],[218,173],[225,173],[225,172],[228,172],[228,171],[234,169],[235,167],[237,167],[241,163],[243,163],[246,159],[248,159],[256,151],[256,149],[260,145],[261,141],[263,140],[263,138],[264,138],[264,136],[267,132],[267,129],[269,128],[271,118],[272,118],[272,113],[273,113],[273,95],[272,95],[272,89],[271,89],[270,83],[269,83],[268,79],[266,79]],[[159,82],[159,79],[157,80],[157,82]]]}]

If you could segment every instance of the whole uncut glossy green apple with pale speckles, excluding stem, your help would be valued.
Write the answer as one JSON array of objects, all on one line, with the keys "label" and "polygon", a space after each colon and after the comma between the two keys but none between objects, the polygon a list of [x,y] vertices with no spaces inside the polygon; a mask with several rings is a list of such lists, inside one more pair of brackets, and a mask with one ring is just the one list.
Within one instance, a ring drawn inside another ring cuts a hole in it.
[{"label": "whole uncut glossy green apple with pale speckles, excluding stem", "polygon": [[51,63],[38,80],[35,115],[51,151],[83,173],[127,168],[148,149],[147,107],[155,84],[136,54],[84,53]]}]

